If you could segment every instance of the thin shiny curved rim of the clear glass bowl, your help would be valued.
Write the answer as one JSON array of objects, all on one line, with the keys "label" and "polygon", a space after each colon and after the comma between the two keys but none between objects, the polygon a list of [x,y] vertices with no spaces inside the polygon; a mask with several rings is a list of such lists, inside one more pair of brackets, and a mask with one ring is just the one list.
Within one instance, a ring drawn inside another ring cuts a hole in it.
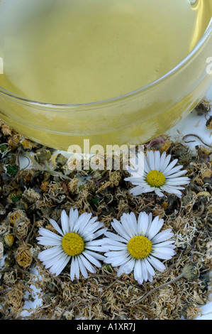
[{"label": "thin shiny curved rim of the clear glass bowl", "polygon": [[106,103],[115,103],[121,99],[124,99],[125,97],[132,97],[134,95],[137,95],[138,93],[145,92],[146,90],[150,90],[152,87],[155,87],[160,84],[160,82],[163,82],[164,80],[169,79],[174,73],[176,73],[178,70],[184,68],[189,61],[192,60],[194,55],[198,53],[199,49],[201,46],[206,43],[208,36],[212,35],[212,17],[211,21],[208,23],[208,26],[206,28],[206,31],[203,33],[203,36],[201,36],[200,40],[196,43],[194,48],[190,51],[186,57],[179,62],[172,70],[169,70],[169,72],[165,73],[161,77],[159,77],[157,80],[150,82],[149,84],[138,88],[138,90],[133,90],[132,92],[128,92],[124,95],[120,95],[118,97],[113,97],[111,99],[104,99],[101,101],[95,101],[95,102],[87,102],[87,103],[79,103],[79,104],[60,104],[60,103],[51,103],[51,102],[43,102],[43,101],[37,101],[35,99],[29,99],[27,97],[23,97],[21,95],[15,94],[13,92],[10,92],[9,90],[6,90],[4,87],[0,86],[0,93],[6,95],[6,97],[12,97],[15,99],[17,102],[22,102],[22,103],[28,103],[32,104],[33,106],[36,107],[90,107],[90,106],[95,106],[98,107],[101,104],[106,104]]}]

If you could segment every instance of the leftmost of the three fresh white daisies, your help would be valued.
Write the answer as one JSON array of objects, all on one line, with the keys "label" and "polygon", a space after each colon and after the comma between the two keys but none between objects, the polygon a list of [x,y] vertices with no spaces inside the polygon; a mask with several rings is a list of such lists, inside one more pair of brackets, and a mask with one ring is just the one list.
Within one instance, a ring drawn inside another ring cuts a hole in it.
[{"label": "leftmost of the three fresh white daisies", "polygon": [[[45,228],[38,231],[42,237],[38,237],[38,244],[52,246],[40,252],[38,259],[43,262],[45,268],[56,276],[61,273],[70,261],[70,276],[79,279],[80,272],[87,279],[87,270],[95,273],[94,266],[101,267],[105,257],[96,252],[104,252],[102,239],[96,239],[103,235],[106,229],[101,228],[103,223],[96,222],[97,217],[91,218],[91,213],[84,212],[79,215],[78,210],[69,211],[69,216],[62,210],[60,228],[55,220],[50,219],[52,227],[58,233]],[[94,264],[94,266],[92,265]]]}]

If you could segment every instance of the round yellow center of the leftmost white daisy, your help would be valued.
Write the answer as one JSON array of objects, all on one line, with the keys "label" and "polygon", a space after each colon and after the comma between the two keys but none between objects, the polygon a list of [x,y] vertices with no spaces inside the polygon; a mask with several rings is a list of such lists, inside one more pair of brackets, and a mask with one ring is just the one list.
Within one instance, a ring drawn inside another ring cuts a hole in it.
[{"label": "round yellow center of the leftmost white daisy", "polygon": [[84,241],[77,233],[67,233],[62,238],[62,248],[66,254],[74,257],[84,251]]}]

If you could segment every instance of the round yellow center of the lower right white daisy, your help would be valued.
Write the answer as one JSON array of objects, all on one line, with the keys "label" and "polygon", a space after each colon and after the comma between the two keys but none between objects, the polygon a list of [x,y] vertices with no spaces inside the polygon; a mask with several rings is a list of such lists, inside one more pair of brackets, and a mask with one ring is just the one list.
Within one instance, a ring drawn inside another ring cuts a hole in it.
[{"label": "round yellow center of the lower right white daisy", "polygon": [[144,259],[152,250],[152,242],[143,235],[135,235],[128,242],[128,252],[135,259]]}]

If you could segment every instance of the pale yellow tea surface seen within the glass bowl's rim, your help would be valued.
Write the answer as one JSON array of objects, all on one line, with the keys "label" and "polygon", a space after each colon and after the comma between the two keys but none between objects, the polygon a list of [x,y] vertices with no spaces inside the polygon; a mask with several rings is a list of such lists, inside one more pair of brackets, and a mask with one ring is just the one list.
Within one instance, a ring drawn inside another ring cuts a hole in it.
[{"label": "pale yellow tea surface seen within the glass bowl's rim", "polygon": [[211,18],[211,0],[10,2],[0,11],[0,86],[55,104],[111,99],[157,80]]}]

